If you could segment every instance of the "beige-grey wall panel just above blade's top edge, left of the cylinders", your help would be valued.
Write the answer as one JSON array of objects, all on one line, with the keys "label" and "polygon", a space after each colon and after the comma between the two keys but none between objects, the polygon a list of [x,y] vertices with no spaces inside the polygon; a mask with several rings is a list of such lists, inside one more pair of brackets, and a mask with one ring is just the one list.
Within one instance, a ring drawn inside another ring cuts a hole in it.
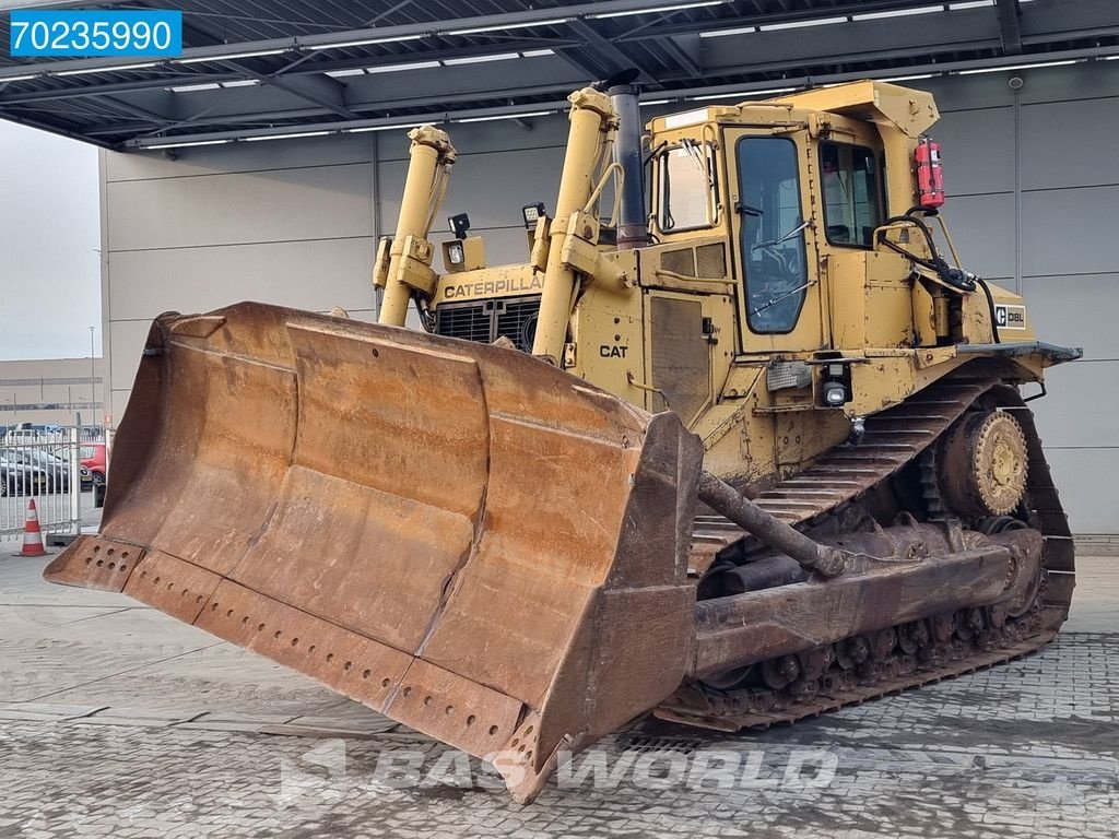
[{"label": "beige-grey wall panel just above blade's top edge, left of the cylinders", "polygon": [[110,255],[116,320],[261,300],[295,309],[373,308],[372,236],[269,245],[125,251]]}]

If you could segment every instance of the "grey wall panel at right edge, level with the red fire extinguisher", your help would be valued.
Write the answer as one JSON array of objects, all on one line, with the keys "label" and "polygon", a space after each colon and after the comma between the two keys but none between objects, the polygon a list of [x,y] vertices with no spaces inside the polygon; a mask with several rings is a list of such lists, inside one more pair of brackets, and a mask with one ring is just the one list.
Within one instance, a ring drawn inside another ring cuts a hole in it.
[{"label": "grey wall panel at right edge, level with the red fire extinguisher", "polygon": [[1021,123],[1023,189],[1119,183],[1119,98],[1024,105]]}]

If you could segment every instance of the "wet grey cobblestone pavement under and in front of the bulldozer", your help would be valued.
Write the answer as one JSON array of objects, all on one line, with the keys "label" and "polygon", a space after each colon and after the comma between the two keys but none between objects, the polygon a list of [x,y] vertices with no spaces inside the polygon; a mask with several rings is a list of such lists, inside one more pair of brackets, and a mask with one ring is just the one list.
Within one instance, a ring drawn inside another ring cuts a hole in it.
[{"label": "wet grey cobblestone pavement under and in front of the bulldozer", "polygon": [[745,736],[645,724],[533,805],[130,601],[0,563],[0,837],[1115,837],[1119,559],[1042,652]]}]

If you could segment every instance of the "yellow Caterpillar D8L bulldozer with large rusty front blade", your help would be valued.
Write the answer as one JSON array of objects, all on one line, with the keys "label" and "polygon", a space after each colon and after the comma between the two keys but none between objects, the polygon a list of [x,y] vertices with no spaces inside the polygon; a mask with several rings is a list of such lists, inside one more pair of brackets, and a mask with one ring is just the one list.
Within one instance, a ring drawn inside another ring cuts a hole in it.
[{"label": "yellow Caterpillar D8L bulldozer with large rusty front blade", "polygon": [[457,216],[436,271],[455,154],[424,126],[379,324],[160,317],[103,530],[47,578],[491,760],[519,800],[645,713],[768,726],[1052,639],[1073,546],[1019,388],[1080,352],[952,253],[931,96],[645,136],[632,87],[570,98],[525,263]]}]

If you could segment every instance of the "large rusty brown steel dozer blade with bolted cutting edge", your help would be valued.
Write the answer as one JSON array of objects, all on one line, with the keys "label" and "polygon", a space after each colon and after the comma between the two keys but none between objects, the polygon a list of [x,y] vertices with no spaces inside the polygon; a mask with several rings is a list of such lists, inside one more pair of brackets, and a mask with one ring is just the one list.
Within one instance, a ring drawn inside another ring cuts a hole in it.
[{"label": "large rusty brown steel dozer blade with bolted cutting edge", "polygon": [[690,652],[703,452],[515,350],[241,303],[152,326],[98,536],[124,592],[470,754],[532,799]]}]

